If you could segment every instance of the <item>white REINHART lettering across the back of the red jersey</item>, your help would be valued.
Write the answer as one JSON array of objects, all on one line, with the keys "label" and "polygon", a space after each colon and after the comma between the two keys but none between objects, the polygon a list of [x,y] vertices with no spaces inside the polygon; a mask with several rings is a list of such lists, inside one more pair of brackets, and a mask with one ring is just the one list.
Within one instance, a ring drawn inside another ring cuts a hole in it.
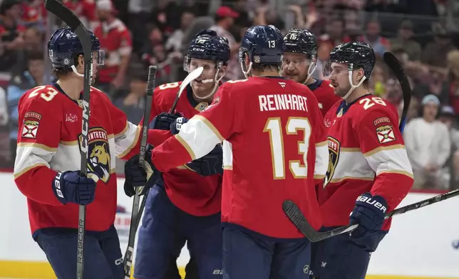
[{"label": "white REINHART lettering across the back of the red jersey", "polygon": [[307,98],[301,95],[293,94],[272,94],[272,95],[259,95],[259,110],[302,110],[307,112],[306,105]]}]

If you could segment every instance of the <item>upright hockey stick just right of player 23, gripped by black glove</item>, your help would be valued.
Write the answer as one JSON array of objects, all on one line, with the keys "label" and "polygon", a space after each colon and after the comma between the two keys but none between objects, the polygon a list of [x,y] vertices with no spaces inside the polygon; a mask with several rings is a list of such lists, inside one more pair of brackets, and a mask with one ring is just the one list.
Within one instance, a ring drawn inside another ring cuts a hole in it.
[{"label": "upright hockey stick just right of player 23, gripped by black glove", "polygon": [[[156,66],[150,66],[148,69],[148,81],[147,81],[147,88],[146,88],[146,95],[145,95],[145,109],[143,112],[143,123],[142,123],[142,137],[140,139],[140,152],[139,152],[139,164],[140,167],[143,167],[145,162],[145,152],[147,148],[147,139],[148,139],[148,120],[150,120],[150,111],[151,111],[151,103],[153,98],[153,90],[155,89],[155,76],[156,71],[158,68]],[[143,187],[137,187],[135,189],[136,193],[133,199],[133,211],[130,215],[130,228],[129,228],[129,238],[128,238],[128,248],[126,249],[125,256],[124,256],[124,275],[125,279],[130,278],[130,268],[133,264],[133,255],[134,255],[134,244],[135,244],[135,233],[137,233],[138,221],[140,220],[140,216],[142,216],[142,212],[139,211],[139,202],[140,196],[139,192],[143,189]],[[147,199],[148,193],[145,194],[143,201]],[[143,210],[142,210],[143,211]]]}]

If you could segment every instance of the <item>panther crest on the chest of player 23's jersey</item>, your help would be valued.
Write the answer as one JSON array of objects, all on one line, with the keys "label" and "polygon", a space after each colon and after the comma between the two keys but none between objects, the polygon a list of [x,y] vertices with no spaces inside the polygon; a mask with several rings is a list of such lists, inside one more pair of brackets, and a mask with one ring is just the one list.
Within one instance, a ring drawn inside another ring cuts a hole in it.
[{"label": "panther crest on the chest of player 23's jersey", "polygon": [[[81,147],[81,135],[78,137]],[[108,135],[101,127],[94,127],[88,131],[88,171],[97,174],[105,184],[110,179],[110,146]]]}]

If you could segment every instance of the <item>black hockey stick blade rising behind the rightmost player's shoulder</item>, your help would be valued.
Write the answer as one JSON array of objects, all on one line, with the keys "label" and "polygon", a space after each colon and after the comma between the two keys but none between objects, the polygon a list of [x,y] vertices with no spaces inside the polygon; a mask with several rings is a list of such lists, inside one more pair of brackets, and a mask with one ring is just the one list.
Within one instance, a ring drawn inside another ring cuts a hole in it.
[{"label": "black hockey stick blade rising behind the rightmost player's shoulder", "polygon": [[406,77],[405,71],[403,70],[400,62],[397,58],[390,52],[384,53],[384,62],[391,68],[392,72],[396,75],[398,83],[400,83],[402,92],[403,92],[403,110],[401,115],[401,121],[399,124],[399,129],[403,133],[406,124],[406,114],[408,113],[408,108],[410,107],[411,102],[411,85]]}]

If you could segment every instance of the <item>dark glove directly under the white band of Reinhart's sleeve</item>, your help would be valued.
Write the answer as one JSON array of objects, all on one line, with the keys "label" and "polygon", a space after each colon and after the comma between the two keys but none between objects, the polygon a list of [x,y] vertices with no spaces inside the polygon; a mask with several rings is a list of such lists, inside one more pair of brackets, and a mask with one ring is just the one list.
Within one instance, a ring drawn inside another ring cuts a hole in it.
[{"label": "dark glove directly under the white band of Reinhart's sleeve", "polygon": [[222,145],[217,144],[209,154],[195,159],[192,162],[185,164],[187,169],[197,172],[202,177],[207,177],[214,174],[223,174],[223,152]]}]

